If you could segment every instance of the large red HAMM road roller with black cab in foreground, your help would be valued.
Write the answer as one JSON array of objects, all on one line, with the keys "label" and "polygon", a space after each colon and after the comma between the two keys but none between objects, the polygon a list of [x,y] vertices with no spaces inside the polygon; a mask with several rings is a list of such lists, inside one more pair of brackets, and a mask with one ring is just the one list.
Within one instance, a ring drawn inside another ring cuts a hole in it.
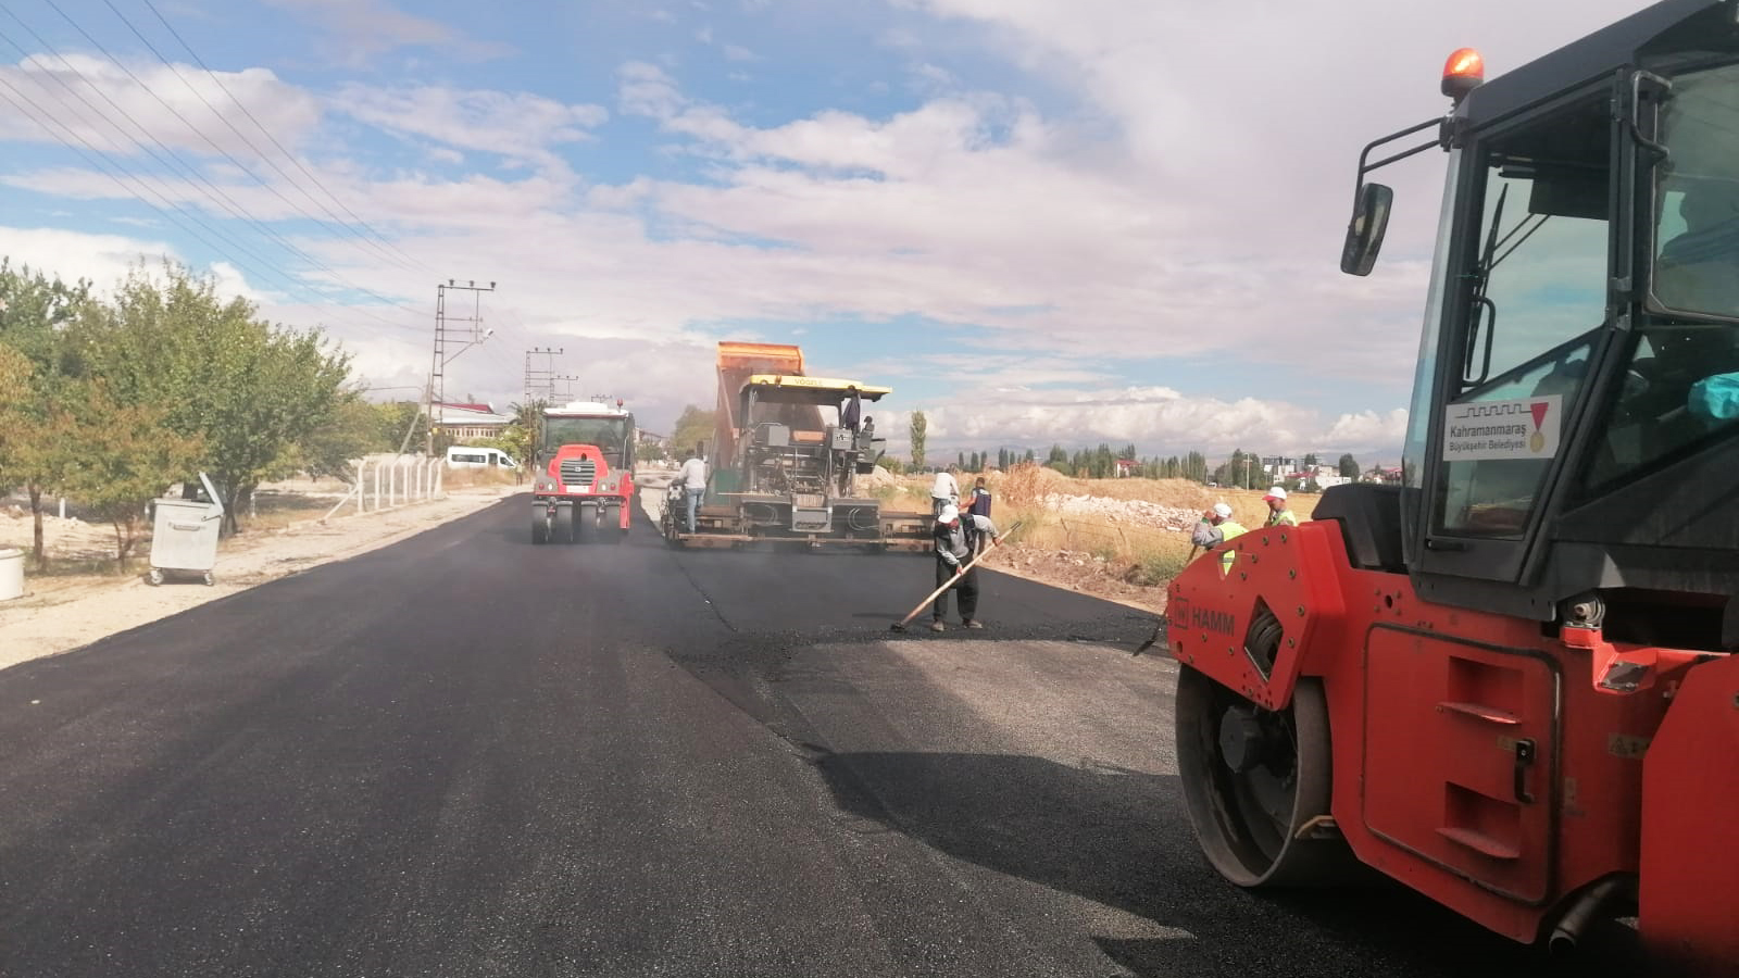
[{"label": "large red HAMM road roller with black cab in foreground", "polygon": [[1341,258],[1384,237],[1367,174],[1442,150],[1403,480],[1170,585],[1186,809],[1238,886],[1376,870],[1539,948],[1732,975],[1739,5],[1489,82],[1464,49],[1442,92],[1365,146]]}]

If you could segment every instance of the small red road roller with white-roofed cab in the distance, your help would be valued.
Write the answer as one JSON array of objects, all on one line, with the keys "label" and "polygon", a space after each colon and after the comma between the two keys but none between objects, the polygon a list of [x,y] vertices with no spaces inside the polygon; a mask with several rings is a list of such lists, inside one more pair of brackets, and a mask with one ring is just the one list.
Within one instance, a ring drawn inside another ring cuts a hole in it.
[{"label": "small red road roller with white-roofed cab in the distance", "polygon": [[544,407],[532,465],[532,543],[621,543],[633,520],[635,416],[621,400]]}]

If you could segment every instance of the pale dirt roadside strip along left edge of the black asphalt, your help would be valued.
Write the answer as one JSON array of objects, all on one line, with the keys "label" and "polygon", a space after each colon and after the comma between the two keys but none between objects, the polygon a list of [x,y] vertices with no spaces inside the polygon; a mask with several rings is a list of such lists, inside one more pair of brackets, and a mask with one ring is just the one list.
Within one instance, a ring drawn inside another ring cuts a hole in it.
[{"label": "pale dirt roadside strip along left edge of the black asphalt", "polygon": [[[43,526],[52,560],[49,574],[26,574],[24,597],[0,602],[0,668],[77,649],[254,585],[396,543],[525,491],[511,484],[464,482],[449,482],[445,499],[337,515],[323,524],[320,517],[344,492],[341,484],[301,480],[263,487],[259,515],[219,546],[214,586],[197,578],[146,585],[150,543],[122,576],[111,571],[115,534],[108,526],[50,517]],[[30,513],[0,506],[0,546],[28,552],[30,541]]]}]

